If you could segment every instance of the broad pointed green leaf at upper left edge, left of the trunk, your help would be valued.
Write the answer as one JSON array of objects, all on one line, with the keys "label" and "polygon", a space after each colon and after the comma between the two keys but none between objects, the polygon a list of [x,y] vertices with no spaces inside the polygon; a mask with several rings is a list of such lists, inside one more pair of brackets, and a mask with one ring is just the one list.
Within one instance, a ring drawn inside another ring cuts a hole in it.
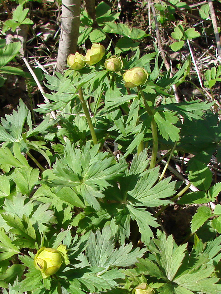
[{"label": "broad pointed green leaf at upper left edge, left of the trunk", "polygon": [[0,49],[0,69],[11,61],[21,48],[20,42],[7,44]]}]

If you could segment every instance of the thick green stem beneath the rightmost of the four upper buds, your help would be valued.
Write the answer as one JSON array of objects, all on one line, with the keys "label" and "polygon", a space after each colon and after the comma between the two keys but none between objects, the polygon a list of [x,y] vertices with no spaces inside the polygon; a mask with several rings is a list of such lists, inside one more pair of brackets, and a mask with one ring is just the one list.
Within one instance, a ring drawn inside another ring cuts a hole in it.
[{"label": "thick green stem beneath the rightmost of the four upper buds", "polygon": [[[141,96],[143,98],[145,109],[149,116],[153,116],[153,112],[150,108],[150,106],[147,103],[147,100],[144,97],[143,91],[140,89],[140,86],[137,87],[137,90],[141,93]],[[151,120],[151,131],[152,131],[152,139],[153,139],[153,147],[152,147],[152,154],[151,154],[151,162],[150,167],[154,168],[156,165],[156,156],[158,151],[158,136],[157,136],[157,127],[156,127],[156,121],[154,120],[154,117]]]}]

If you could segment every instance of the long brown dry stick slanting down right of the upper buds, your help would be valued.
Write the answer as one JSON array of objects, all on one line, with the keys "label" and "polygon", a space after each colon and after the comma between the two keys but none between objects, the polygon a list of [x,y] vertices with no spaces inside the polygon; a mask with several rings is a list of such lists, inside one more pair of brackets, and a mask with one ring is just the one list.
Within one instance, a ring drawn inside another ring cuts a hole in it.
[{"label": "long brown dry stick slanting down right of the upper buds", "polygon": [[[156,11],[155,11],[153,2],[151,2],[151,0],[148,0],[148,3],[150,3],[151,10],[152,10],[153,17],[154,17],[155,26],[156,26],[157,45],[158,45],[158,48],[160,50],[161,57],[162,57],[162,59],[164,61],[164,65],[166,67],[166,70],[169,72],[170,65],[169,65],[168,61],[166,60],[166,57],[165,57],[165,54],[164,54],[164,51],[163,51],[163,48],[162,48],[162,45],[161,45],[161,37],[160,37],[160,31],[159,31],[159,27],[158,27],[158,21],[157,21],[157,18],[156,18]],[[170,78],[172,78],[172,77],[173,77],[172,72],[170,72]],[[176,90],[176,85],[173,85],[172,87],[173,87],[176,102],[178,103],[178,102],[180,102],[180,99],[179,99],[179,96],[178,96],[178,93],[177,93],[177,90]]]}]

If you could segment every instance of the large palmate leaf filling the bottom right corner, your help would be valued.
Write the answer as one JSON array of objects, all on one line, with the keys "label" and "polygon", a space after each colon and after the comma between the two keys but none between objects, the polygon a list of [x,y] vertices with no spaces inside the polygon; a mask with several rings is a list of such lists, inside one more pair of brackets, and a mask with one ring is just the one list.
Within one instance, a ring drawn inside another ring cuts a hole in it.
[{"label": "large palmate leaf filling the bottom right corner", "polygon": [[[164,232],[158,231],[157,239],[152,239],[148,246],[152,253],[146,259],[138,259],[137,272],[163,281],[164,285],[158,290],[161,294],[218,294],[221,284],[216,284],[219,278],[214,277],[212,264],[214,258],[219,258],[220,238],[211,242],[200,249],[199,245],[203,245],[200,240],[189,255],[187,244],[177,246],[172,235],[167,238]],[[218,245],[218,250],[213,250],[213,245]],[[209,254],[211,263],[203,252]]]}]

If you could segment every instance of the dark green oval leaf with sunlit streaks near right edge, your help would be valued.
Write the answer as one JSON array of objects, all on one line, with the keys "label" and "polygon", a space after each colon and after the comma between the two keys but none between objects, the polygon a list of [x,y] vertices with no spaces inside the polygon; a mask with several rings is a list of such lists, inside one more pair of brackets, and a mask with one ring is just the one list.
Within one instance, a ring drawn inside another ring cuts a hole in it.
[{"label": "dark green oval leaf with sunlit streaks near right edge", "polygon": [[189,181],[198,189],[207,191],[212,183],[212,172],[208,166],[200,161],[194,160],[188,167]]}]

